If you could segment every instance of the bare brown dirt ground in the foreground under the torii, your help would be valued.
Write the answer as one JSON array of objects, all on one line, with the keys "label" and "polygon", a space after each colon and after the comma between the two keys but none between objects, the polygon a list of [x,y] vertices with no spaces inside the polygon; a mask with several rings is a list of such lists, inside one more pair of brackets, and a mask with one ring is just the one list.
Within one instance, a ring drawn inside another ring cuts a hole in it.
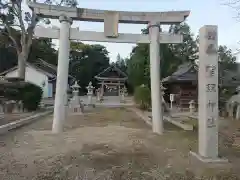
[{"label": "bare brown dirt ground in the foreground under the torii", "polygon": [[196,132],[165,124],[162,136],[131,111],[100,108],[70,116],[61,135],[52,116],[0,136],[1,180],[237,180],[239,150],[220,142],[226,164],[203,164],[189,155]]}]

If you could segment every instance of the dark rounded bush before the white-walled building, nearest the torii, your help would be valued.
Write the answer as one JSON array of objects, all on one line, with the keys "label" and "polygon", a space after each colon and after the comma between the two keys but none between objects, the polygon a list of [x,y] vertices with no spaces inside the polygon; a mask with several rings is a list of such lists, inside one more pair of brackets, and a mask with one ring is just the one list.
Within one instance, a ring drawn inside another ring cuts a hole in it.
[{"label": "dark rounded bush before the white-walled building, nearest the torii", "polygon": [[32,83],[27,83],[21,88],[20,93],[25,109],[28,111],[35,111],[38,109],[43,94],[41,87]]}]

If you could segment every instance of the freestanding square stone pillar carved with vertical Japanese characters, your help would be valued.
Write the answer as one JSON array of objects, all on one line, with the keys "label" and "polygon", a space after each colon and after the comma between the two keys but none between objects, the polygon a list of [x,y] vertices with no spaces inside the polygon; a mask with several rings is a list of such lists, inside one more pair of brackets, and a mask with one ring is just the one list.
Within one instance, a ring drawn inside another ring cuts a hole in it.
[{"label": "freestanding square stone pillar carved with vertical Japanese characters", "polygon": [[199,31],[198,153],[203,162],[225,162],[218,156],[218,32],[207,25]]}]

